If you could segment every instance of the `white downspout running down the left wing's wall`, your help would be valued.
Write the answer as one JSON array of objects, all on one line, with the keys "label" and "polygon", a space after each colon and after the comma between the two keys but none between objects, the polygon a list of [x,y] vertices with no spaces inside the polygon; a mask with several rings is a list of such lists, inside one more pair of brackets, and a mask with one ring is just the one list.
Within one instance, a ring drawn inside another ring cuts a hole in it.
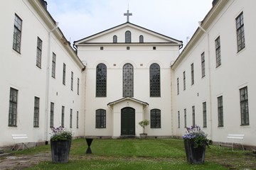
[{"label": "white downspout running down the left wing's wall", "polygon": [[54,30],[58,28],[58,22],[55,23],[55,28],[49,31],[48,33],[48,57],[47,57],[47,70],[46,70],[46,134],[45,134],[45,139],[46,139],[46,144],[48,143],[48,135],[49,135],[49,103],[50,103],[50,35],[53,33]]}]

